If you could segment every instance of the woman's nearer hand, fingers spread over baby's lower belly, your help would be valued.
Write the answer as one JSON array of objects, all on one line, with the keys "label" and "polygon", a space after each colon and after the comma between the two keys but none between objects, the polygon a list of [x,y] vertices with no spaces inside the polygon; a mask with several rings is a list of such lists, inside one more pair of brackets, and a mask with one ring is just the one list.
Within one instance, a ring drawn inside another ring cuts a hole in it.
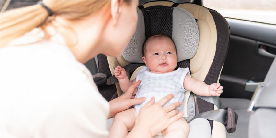
[{"label": "woman's nearer hand, fingers spread over baby's lower belly", "polygon": [[176,107],[181,105],[181,102],[175,102],[166,107],[162,107],[167,103],[174,95],[170,94],[162,98],[159,102],[155,102],[155,98],[144,105],[137,117],[135,126],[127,137],[153,137],[158,132],[166,129],[172,122],[180,119],[184,112],[179,113]]}]

